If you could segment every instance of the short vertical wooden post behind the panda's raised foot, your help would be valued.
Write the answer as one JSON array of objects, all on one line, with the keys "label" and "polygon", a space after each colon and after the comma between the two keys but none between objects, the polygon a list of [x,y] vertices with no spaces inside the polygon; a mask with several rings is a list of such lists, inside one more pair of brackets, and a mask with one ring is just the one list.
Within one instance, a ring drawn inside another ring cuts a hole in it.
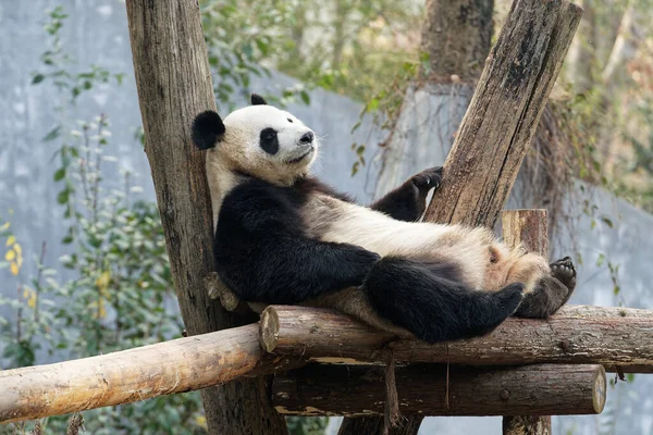
[{"label": "short vertical wooden post behind the panda's raised foot", "polygon": [[[508,246],[521,244],[525,249],[549,257],[546,210],[505,210],[501,214],[503,238]],[[506,415],[504,435],[550,435],[550,415]]]}]

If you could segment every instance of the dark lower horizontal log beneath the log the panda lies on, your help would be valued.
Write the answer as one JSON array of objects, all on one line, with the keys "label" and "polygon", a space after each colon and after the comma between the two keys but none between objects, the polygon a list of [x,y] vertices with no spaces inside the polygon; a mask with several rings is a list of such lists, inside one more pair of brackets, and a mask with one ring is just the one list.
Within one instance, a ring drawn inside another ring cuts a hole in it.
[{"label": "dark lower horizontal log beneath the log the panda lies on", "polygon": [[[446,364],[419,364],[398,369],[396,384],[402,413],[423,415],[595,414],[606,394],[599,364],[452,365],[448,374]],[[284,414],[382,414],[383,369],[312,364],[275,376],[272,398]]]}]

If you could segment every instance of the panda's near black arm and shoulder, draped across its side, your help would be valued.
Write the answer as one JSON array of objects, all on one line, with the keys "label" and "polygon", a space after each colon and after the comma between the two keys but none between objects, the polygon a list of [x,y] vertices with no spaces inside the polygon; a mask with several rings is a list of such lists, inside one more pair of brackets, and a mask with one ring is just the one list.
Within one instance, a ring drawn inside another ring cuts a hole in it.
[{"label": "panda's near black arm and shoulder, draped across its side", "polygon": [[215,266],[244,300],[298,303],[362,285],[377,253],[307,237],[296,204],[272,186],[238,187],[225,198],[215,233]]}]

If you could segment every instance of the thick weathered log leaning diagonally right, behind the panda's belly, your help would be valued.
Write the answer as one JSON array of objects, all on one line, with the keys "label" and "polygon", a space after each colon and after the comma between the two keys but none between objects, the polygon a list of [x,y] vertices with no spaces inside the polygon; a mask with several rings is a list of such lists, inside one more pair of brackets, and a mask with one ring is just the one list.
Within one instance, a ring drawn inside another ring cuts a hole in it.
[{"label": "thick weathered log leaning diagonally right, behind the panda's belly", "polygon": [[581,13],[567,0],[513,2],[444,163],[428,221],[494,224]]}]

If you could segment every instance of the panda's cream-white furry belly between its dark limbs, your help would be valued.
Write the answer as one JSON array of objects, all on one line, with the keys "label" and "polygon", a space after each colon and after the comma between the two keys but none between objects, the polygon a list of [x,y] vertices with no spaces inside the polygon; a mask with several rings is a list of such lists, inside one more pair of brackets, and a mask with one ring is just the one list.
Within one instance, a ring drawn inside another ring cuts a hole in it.
[{"label": "panda's cream-white furry belly between its dark limbs", "polygon": [[309,236],[358,245],[381,257],[454,262],[467,285],[483,286],[494,243],[485,228],[402,222],[381,212],[328,196],[311,198],[303,210]]}]

